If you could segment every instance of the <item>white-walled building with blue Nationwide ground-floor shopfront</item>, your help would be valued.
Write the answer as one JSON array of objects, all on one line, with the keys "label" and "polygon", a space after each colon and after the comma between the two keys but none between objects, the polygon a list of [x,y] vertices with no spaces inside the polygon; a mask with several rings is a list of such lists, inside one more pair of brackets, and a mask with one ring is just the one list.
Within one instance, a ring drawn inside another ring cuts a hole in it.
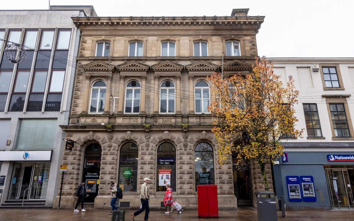
[{"label": "white-walled building with blue Nationwide ground-floor shopfront", "polygon": [[353,209],[354,58],[269,60],[283,82],[294,77],[295,127],[306,128],[283,141],[284,161],[273,167],[278,198],[285,196],[286,209]]}]

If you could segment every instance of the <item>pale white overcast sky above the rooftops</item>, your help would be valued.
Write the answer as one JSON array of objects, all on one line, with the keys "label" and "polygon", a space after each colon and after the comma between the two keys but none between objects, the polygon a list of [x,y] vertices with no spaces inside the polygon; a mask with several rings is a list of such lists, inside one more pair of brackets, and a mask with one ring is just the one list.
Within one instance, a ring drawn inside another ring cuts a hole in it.
[{"label": "pale white overcast sky above the rooftops", "polygon": [[[257,34],[259,56],[354,57],[354,0],[50,0],[93,5],[98,16],[230,16],[250,8],[265,16]],[[6,9],[48,9],[48,0],[1,1]]]}]

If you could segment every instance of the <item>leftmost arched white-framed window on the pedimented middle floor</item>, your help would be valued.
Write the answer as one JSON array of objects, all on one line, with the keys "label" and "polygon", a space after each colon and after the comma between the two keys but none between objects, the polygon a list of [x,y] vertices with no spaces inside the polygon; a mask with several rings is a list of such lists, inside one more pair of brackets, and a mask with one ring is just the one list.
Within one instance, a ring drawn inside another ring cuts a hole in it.
[{"label": "leftmost arched white-framed window on the pedimented middle floor", "polygon": [[97,81],[91,88],[90,114],[103,113],[105,97],[106,84],[103,81]]}]

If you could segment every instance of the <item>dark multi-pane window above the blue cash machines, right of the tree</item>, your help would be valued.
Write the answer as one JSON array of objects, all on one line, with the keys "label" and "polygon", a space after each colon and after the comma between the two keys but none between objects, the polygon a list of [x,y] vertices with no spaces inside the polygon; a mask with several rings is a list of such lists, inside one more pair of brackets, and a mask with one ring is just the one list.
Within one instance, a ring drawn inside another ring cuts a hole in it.
[{"label": "dark multi-pane window above the blue cash machines, right of the tree", "polygon": [[302,104],[305,115],[307,135],[321,137],[321,124],[316,104]]}]

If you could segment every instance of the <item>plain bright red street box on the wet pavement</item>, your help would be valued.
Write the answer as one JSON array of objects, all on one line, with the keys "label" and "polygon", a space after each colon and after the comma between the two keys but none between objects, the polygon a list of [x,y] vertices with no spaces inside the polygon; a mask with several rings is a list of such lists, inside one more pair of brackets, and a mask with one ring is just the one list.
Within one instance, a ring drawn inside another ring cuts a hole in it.
[{"label": "plain bright red street box on the wet pavement", "polygon": [[216,185],[198,185],[198,217],[219,217],[218,192]]}]

